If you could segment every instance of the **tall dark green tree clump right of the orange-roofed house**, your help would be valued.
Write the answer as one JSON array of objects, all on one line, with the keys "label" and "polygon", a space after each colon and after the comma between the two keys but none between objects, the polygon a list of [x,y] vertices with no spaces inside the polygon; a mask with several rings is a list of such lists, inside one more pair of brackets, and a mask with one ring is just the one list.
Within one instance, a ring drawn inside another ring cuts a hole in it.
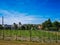
[{"label": "tall dark green tree clump right of the orange-roofed house", "polygon": [[60,30],[60,22],[58,22],[58,21],[51,22],[50,19],[43,22],[42,26],[43,26],[44,30],[49,30],[49,31],[59,31]]}]

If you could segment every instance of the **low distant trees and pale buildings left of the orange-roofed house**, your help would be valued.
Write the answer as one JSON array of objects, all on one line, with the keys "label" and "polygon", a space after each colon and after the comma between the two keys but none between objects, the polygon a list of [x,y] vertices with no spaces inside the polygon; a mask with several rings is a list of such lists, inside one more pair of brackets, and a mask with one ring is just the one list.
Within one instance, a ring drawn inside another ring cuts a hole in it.
[{"label": "low distant trees and pale buildings left of the orange-roofed house", "polygon": [[11,30],[37,30],[38,25],[37,24],[21,24],[19,22],[18,24],[13,23],[12,25],[4,25],[2,26],[0,24],[0,29],[11,29]]}]

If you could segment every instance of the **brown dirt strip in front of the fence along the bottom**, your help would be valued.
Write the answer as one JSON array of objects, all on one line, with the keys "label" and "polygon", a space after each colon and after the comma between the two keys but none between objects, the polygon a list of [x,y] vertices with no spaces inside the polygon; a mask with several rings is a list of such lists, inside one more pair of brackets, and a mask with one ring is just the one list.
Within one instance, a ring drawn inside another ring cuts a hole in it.
[{"label": "brown dirt strip in front of the fence along the bottom", "polygon": [[60,43],[39,43],[39,42],[19,42],[0,40],[0,45],[60,45]]}]

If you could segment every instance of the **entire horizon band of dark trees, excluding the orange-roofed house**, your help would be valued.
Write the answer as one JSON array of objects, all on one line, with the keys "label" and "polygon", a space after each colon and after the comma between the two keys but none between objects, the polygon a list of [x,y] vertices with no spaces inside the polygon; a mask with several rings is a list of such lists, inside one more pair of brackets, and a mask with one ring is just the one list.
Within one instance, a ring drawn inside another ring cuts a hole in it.
[{"label": "entire horizon band of dark trees, excluding the orange-roofed house", "polygon": [[60,22],[54,21],[52,22],[50,19],[46,20],[42,24],[19,24],[13,23],[13,25],[5,25],[2,26],[0,24],[0,29],[13,29],[13,30],[39,30],[38,26],[42,26],[41,30],[49,30],[49,31],[59,31],[60,30]]}]

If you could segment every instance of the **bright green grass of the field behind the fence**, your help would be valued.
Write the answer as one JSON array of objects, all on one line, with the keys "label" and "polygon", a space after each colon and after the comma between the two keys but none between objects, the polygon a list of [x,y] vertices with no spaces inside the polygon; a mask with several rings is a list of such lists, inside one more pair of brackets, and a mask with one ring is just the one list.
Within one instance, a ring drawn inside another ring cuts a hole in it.
[{"label": "bright green grass of the field behind the fence", "polygon": [[[5,36],[25,36],[25,37],[30,37],[30,30],[0,30],[0,35]],[[60,34],[60,32],[57,32]],[[58,35],[56,32],[47,32],[43,30],[31,30],[31,36],[32,37],[39,37],[39,38],[44,38],[44,39],[54,39],[60,40],[60,35]]]}]

